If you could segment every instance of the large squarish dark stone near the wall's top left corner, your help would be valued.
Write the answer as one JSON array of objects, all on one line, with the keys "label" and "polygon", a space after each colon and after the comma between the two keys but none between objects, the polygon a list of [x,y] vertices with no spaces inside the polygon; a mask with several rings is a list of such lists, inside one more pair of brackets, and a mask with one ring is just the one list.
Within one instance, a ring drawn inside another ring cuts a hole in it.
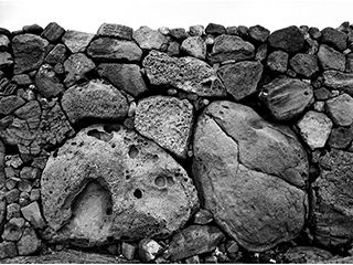
[{"label": "large squarish dark stone near the wall's top left corner", "polygon": [[38,70],[44,60],[49,42],[34,34],[21,34],[12,39],[14,74]]}]

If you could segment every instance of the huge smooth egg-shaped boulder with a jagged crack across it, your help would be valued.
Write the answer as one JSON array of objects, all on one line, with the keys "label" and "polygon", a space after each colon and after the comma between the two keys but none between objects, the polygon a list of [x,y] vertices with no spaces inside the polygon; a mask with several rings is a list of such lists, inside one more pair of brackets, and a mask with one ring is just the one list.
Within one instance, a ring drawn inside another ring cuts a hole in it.
[{"label": "huge smooth egg-shaped boulder with a jagged crack across it", "polygon": [[[252,108],[214,102],[199,118],[192,172],[204,208],[252,252],[293,239],[306,216],[308,159],[295,134]],[[276,194],[276,197],[274,197]]]}]

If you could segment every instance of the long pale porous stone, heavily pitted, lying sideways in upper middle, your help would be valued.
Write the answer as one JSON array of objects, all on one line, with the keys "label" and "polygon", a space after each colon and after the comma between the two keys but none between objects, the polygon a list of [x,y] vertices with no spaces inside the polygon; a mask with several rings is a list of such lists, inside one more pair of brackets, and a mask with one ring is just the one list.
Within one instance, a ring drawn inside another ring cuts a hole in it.
[{"label": "long pale porous stone, heavily pitted, lying sideways in upper middle", "polygon": [[142,62],[147,76],[153,85],[171,85],[199,96],[226,96],[215,70],[194,57],[170,57],[151,51]]}]

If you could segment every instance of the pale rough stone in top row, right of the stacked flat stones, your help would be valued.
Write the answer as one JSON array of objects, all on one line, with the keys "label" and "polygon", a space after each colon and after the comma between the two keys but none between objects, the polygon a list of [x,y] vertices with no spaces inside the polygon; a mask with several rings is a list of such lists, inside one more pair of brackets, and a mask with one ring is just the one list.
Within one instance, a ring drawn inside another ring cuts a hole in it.
[{"label": "pale rough stone in top row, right of the stacked flat stones", "polygon": [[163,35],[158,30],[152,30],[146,25],[140,26],[132,34],[133,40],[142,50],[165,51],[169,44],[169,38]]}]

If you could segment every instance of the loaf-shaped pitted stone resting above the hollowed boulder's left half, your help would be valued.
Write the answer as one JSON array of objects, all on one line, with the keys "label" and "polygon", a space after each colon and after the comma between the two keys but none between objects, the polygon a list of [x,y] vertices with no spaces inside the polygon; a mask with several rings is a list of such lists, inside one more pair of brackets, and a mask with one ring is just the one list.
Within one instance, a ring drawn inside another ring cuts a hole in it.
[{"label": "loaf-shaped pitted stone resting above the hollowed boulder's left half", "polygon": [[99,81],[68,88],[61,103],[72,124],[84,118],[121,119],[128,113],[126,97],[115,87]]}]

